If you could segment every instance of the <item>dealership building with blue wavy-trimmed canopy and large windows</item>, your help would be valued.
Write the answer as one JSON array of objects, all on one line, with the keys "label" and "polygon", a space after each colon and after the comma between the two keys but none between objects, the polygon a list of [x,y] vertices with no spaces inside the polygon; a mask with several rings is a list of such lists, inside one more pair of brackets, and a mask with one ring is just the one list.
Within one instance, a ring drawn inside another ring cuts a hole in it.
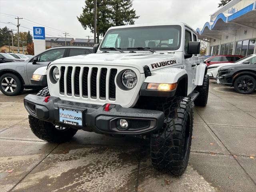
[{"label": "dealership building with blue wavy-trimmed canopy and large windows", "polygon": [[256,53],[256,1],[232,0],[210,16],[198,39],[208,42],[206,55]]}]

